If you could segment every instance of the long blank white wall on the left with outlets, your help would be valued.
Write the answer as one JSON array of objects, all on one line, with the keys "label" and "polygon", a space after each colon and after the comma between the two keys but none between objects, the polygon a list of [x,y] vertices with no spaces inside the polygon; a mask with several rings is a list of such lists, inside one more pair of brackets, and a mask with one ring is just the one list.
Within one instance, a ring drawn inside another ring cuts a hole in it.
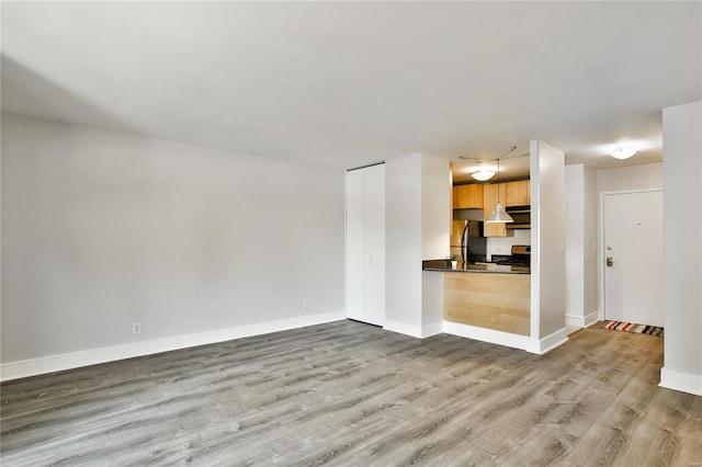
[{"label": "long blank white wall on the left with outlets", "polygon": [[342,311],[343,196],[337,169],[3,114],[2,363]]}]

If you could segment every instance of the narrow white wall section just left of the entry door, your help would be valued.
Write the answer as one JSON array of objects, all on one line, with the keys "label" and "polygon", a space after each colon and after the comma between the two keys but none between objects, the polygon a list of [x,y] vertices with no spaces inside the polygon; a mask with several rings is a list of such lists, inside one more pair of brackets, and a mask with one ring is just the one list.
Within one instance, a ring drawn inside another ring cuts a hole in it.
[{"label": "narrow white wall section just left of the entry door", "polygon": [[565,167],[566,322],[586,327],[598,319],[597,178],[585,164]]}]

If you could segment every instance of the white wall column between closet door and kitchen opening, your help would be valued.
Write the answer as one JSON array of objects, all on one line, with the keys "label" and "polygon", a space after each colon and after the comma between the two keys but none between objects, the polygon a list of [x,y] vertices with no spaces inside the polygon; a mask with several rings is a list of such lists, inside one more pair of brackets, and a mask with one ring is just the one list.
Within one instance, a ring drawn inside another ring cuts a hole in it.
[{"label": "white wall column between closet door and kitchen opening", "polygon": [[446,258],[451,234],[449,161],[420,152],[385,161],[385,327],[441,332],[441,273],[421,261]]}]

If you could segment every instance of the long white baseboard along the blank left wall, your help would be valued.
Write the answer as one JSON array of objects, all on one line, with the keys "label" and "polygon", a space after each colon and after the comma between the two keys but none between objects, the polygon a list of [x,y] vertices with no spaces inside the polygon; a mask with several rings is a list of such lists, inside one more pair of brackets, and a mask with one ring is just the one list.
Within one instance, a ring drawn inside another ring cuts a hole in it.
[{"label": "long white baseboard along the blank left wall", "polygon": [[174,335],[172,338],[154,339],[129,344],[90,349],[39,358],[10,362],[0,365],[0,380],[8,381],[11,379],[42,375],[45,373],[60,372],[64,369],[97,365],[100,363],[114,362],[135,356],[213,344],[216,342],[230,341],[233,339],[268,334],[270,332],[285,331],[307,326],[322,324],[325,322],[340,321],[343,319],[346,319],[346,311],[330,311],[326,314],[306,315],[256,324],[237,326],[216,331]]}]

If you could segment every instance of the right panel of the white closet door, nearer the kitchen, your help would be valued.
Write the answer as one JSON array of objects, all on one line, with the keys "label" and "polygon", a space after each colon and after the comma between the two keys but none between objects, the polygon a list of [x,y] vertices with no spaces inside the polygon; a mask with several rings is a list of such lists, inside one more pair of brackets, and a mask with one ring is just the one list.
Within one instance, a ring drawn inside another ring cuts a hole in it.
[{"label": "right panel of the white closet door, nearer the kitchen", "polygon": [[385,322],[385,166],[365,172],[365,322]]}]

